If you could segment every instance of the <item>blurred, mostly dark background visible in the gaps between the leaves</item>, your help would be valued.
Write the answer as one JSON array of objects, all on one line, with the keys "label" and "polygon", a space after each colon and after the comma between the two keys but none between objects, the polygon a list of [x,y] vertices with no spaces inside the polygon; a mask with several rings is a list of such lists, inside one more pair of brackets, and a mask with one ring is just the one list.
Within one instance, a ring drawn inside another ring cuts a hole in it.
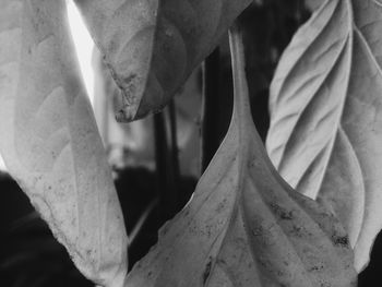
[{"label": "blurred, mostly dark background visible in the gaps between the leaves", "polygon": [[[277,61],[320,2],[258,0],[240,16],[246,26],[252,116],[263,140],[268,128],[268,87]],[[159,227],[188,202],[227,131],[232,105],[228,38],[224,37],[195,69],[162,113],[117,123],[114,107],[119,100],[118,88],[71,1],[68,13],[124,214],[131,268],[155,244]],[[205,98],[203,91],[208,95]],[[0,169],[0,286],[93,286],[76,271],[1,160]],[[360,274],[359,286],[380,286],[382,282],[378,276],[382,271],[380,238],[369,267]]]}]

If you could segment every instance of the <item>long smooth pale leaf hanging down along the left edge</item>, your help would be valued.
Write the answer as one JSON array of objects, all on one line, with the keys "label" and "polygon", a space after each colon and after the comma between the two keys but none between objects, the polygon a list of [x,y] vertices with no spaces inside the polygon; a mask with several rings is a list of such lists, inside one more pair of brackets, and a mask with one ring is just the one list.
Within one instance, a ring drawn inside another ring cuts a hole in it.
[{"label": "long smooth pale leaf hanging down along the left edge", "polygon": [[0,151],[80,271],[121,286],[127,236],[63,0],[1,0]]}]

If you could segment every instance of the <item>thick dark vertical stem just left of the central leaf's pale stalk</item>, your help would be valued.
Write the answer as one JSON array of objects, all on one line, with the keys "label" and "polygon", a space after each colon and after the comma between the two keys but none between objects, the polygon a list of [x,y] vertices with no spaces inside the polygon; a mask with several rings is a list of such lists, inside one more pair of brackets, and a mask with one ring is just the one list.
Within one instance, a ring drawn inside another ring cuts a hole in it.
[{"label": "thick dark vertical stem just left of the central leaf's pale stalk", "polygon": [[204,61],[203,69],[203,110],[202,110],[202,172],[219,146],[219,59],[218,48]]}]

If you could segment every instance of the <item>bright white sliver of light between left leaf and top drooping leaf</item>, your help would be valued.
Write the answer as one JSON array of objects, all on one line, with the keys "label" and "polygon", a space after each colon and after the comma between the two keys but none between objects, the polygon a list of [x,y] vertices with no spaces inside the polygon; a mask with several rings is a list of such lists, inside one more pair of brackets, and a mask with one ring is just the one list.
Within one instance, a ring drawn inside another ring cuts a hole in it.
[{"label": "bright white sliver of light between left leaf and top drooping leaf", "polygon": [[73,36],[74,46],[80,62],[82,76],[88,97],[93,104],[94,72],[92,67],[92,52],[94,41],[88,34],[82,16],[72,0],[67,0],[69,26]]}]

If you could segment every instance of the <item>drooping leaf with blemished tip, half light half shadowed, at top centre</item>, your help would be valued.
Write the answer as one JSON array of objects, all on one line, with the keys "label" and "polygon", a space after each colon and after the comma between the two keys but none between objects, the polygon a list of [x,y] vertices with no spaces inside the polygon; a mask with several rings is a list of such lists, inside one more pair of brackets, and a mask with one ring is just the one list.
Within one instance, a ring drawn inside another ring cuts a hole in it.
[{"label": "drooping leaf with blemished tip, half light half shadowed, at top centre", "polygon": [[75,0],[121,89],[117,118],[160,110],[250,0]]}]

